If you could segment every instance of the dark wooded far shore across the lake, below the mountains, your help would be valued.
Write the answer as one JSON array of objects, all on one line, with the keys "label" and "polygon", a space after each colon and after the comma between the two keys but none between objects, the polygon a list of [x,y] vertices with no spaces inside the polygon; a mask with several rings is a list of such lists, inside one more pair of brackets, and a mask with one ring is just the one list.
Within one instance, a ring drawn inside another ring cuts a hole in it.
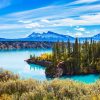
[{"label": "dark wooded far shore across the lake, below the mountains", "polygon": [[0,41],[0,50],[52,48],[53,42]]}]

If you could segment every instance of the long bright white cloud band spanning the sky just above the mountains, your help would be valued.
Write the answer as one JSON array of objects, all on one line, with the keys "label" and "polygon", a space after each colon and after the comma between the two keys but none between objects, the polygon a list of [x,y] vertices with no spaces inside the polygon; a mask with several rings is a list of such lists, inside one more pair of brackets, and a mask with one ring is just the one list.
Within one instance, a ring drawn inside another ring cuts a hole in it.
[{"label": "long bright white cloud band spanning the sky just above the mountains", "polygon": [[[60,19],[42,19],[42,20],[19,20],[16,24],[2,24],[1,29],[11,29],[11,28],[49,28],[49,27],[59,27],[59,26],[77,26],[75,30],[85,31],[84,28],[79,27],[80,25],[100,25],[100,13],[82,15],[75,18],[60,18]],[[19,24],[20,22],[20,24]]]}]

